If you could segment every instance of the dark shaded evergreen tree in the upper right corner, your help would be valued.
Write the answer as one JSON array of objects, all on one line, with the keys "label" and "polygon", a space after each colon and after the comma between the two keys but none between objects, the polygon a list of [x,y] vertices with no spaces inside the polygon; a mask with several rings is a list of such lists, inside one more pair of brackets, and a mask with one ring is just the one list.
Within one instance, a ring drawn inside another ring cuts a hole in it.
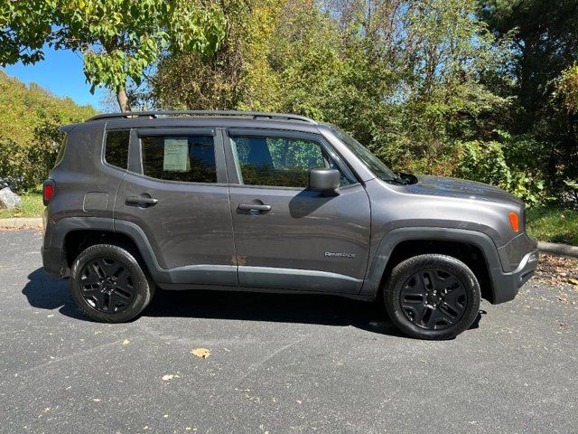
[{"label": "dark shaded evergreen tree in the upper right corner", "polygon": [[[548,188],[564,199],[566,179],[578,178],[578,125],[572,107],[573,64],[578,61],[578,4],[575,0],[480,0],[480,16],[498,37],[513,31],[508,86],[499,91],[517,100],[511,122],[515,135],[544,143]],[[566,71],[565,76],[563,76]]]}]

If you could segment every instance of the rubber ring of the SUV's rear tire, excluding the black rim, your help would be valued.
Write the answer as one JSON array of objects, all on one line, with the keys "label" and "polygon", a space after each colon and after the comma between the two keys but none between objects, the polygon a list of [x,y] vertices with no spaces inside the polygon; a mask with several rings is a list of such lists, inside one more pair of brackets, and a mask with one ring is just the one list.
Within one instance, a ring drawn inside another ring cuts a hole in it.
[{"label": "rubber ring of the SUV's rear tire, excluding the black rim", "polygon": [[[135,297],[131,304],[121,312],[100,312],[91,307],[82,296],[80,287],[80,270],[92,259],[110,258],[122,262],[134,279]],[[138,316],[144,307],[148,305],[152,297],[151,285],[144,274],[144,270],[138,264],[135,257],[127,250],[112,244],[97,244],[83,250],[77,259],[74,260],[70,269],[70,289],[72,297],[79,309],[87,316],[97,321],[109,323],[121,323]]]}]

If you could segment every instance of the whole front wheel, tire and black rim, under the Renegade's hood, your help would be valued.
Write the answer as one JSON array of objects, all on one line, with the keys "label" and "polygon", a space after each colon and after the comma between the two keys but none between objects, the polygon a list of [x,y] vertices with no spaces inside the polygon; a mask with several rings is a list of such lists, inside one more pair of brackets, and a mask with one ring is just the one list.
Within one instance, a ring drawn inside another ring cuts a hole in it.
[{"label": "whole front wheel, tire and black rim, under the Renegade's hood", "polygon": [[384,286],[387,314],[406,335],[452,339],[480,311],[480,283],[461,260],[439,254],[406,259]]}]

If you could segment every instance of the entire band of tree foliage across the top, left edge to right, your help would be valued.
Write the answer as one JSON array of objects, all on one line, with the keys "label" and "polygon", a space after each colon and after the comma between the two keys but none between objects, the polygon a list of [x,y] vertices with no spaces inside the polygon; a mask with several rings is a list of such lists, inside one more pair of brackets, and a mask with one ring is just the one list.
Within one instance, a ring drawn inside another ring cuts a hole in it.
[{"label": "entire band of tree foliage across the top, left edge to right", "polygon": [[299,113],[398,171],[578,199],[575,0],[8,3],[4,62],[48,41],[85,53],[93,84],[145,77],[141,106]]}]

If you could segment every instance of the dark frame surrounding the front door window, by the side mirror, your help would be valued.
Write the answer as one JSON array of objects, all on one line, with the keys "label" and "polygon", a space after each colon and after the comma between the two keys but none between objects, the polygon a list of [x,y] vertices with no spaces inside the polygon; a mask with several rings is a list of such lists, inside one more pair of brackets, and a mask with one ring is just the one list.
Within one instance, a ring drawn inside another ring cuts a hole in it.
[{"label": "dark frame surrounding the front door window, by the side mirror", "polygon": [[[262,184],[240,184],[239,180],[241,176],[238,170],[241,170],[240,166],[237,168],[235,163],[235,156],[233,152],[233,144],[231,137],[281,137],[281,138],[294,138],[302,139],[316,143],[322,147],[331,158],[338,165],[341,173],[348,179],[350,179],[351,184],[341,186],[340,189],[350,188],[359,184],[358,176],[351,170],[350,166],[345,163],[345,160],[337,153],[337,151],[331,146],[331,144],[323,137],[321,134],[308,133],[303,131],[294,130],[284,130],[284,129],[274,129],[274,128],[243,128],[243,127],[230,127],[223,128],[223,143],[225,146],[225,154],[227,157],[227,171],[228,179],[230,180],[230,185],[235,187],[247,187],[247,188],[267,188],[267,189],[278,189],[278,190],[294,190],[303,191],[303,187],[288,187],[283,185],[262,185]],[[306,188],[305,188],[306,189]]]}]

